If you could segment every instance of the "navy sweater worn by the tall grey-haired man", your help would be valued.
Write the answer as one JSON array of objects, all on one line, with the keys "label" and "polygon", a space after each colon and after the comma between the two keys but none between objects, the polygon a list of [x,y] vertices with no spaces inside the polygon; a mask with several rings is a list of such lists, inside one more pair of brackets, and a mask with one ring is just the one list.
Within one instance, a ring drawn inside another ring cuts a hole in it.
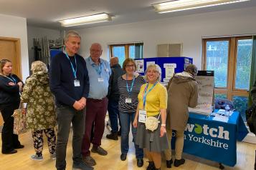
[{"label": "navy sweater worn by the tall grey-haired man", "polygon": [[[72,71],[70,61],[75,66],[75,58],[77,62],[77,79],[80,86],[74,85],[75,76]],[[49,69],[49,85],[52,94],[55,96],[57,106],[72,106],[75,101],[82,97],[87,99],[89,94],[90,82],[85,59],[75,54],[74,57],[67,59],[64,53],[57,54],[52,58]]]}]

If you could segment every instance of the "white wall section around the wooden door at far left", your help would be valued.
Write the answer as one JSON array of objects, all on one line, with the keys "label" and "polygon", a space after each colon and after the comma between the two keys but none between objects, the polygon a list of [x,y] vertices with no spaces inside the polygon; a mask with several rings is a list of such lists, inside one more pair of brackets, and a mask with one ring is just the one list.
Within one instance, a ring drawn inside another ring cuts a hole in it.
[{"label": "white wall section around the wooden door at far left", "polygon": [[29,56],[27,51],[27,19],[0,14],[0,36],[18,38],[21,42],[22,78],[29,76]]}]

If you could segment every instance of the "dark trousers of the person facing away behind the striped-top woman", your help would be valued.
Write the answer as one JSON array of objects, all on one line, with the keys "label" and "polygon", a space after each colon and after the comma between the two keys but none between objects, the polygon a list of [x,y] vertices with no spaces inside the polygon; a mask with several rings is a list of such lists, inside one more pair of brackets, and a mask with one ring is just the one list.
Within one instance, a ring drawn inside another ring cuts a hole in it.
[{"label": "dark trousers of the person facing away behind the striped-top woman", "polygon": [[120,122],[118,100],[109,99],[108,100],[108,116],[110,119],[110,126],[113,133],[118,132],[118,119]]}]

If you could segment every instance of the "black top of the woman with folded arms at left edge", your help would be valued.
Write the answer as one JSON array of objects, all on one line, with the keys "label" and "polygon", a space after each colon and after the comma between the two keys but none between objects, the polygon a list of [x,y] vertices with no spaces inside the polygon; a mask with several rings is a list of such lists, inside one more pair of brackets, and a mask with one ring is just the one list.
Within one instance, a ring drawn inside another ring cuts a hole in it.
[{"label": "black top of the woman with folded arms at left edge", "polygon": [[13,81],[6,76],[0,75],[0,105],[14,104],[20,101],[19,85],[17,83],[22,80],[15,74],[11,74],[11,78],[15,79],[16,85],[10,86],[9,83]]}]

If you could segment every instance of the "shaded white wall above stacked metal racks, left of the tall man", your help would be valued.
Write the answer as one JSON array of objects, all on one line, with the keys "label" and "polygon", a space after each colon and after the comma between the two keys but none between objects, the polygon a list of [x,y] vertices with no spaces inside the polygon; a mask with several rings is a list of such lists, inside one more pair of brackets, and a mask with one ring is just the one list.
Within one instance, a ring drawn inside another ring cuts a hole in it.
[{"label": "shaded white wall above stacked metal racks, left of the tall man", "polygon": [[32,47],[34,38],[44,38],[47,36],[48,39],[60,39],[61,31],[57,29],[44,29],[36,26],[27,26],[27,41],[29,49],[29,68],[32,61],[34,61],[34,49]]}]

